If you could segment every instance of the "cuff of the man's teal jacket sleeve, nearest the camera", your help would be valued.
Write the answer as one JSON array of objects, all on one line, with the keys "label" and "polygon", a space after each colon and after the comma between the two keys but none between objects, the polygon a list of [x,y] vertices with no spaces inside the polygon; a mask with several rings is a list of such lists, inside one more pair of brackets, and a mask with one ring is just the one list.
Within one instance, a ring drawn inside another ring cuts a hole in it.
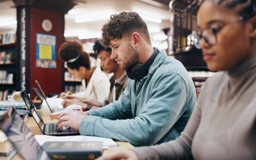
[{"label": "cuff of the man's teal jacket sleeve, nearest the camera", "polygon": [[94,124],[99,118],[99,116],[84,116],[79,126],[80,134],[94,136]]}]

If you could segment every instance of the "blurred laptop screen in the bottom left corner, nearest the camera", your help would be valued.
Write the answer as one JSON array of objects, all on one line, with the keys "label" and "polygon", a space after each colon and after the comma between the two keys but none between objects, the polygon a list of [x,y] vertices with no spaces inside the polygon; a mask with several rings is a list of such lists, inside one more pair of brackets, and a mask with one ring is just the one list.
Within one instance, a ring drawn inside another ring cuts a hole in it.
[{"label": "blurred laptop screen in the bottom left corner, nearest the camera", "polygon": [[49,159],[46,152],[38,145],[33,134],[29,131],[26,121],[13,111],[0,119],[0,126],[3,132],[18,150],[23,159]]}]

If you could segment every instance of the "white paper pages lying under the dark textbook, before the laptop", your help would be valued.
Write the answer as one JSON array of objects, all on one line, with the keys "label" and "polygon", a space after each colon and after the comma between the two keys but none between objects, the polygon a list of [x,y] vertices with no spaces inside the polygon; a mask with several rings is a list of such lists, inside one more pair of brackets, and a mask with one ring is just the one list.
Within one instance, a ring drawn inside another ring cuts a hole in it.
[{"label": "white paper pages lying under the dark textbook, before the laptop", "polygon": [[116,147],[117,144],[111,138],[96,136],[46,136],[35,135],[37,143],[42,146],[46,141],[103,141],[102,148]]}]

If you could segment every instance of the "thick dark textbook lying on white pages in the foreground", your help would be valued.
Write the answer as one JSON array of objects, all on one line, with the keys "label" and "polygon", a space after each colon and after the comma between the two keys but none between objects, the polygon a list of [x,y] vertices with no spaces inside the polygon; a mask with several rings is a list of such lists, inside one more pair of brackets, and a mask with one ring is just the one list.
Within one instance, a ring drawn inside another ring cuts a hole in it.
[{"label": "thick dark textbook lying on white pages in the foreground", "polygon": [[96,159],[103,141],[47,141],[42,145],[51,159]]}]

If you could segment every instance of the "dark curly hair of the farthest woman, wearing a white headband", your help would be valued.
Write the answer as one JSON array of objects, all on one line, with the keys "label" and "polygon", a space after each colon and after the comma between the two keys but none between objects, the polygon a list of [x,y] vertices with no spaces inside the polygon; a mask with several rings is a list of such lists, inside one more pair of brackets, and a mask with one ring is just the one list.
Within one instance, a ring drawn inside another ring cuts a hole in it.
[{"label": "dark curly hair of the farthest woman, wearing a white headband", "polygon": [[[81,54],[79,56],[79,54]],[[78,40],[70,40],[61,45],[59,56],[62,61],[69,61],[77,58],[74,62],[67,62],[68,68],[79,70],[80,67],[85,67],[90,70],[90,58],[86,52],[83,51],[83,44]]]}]

